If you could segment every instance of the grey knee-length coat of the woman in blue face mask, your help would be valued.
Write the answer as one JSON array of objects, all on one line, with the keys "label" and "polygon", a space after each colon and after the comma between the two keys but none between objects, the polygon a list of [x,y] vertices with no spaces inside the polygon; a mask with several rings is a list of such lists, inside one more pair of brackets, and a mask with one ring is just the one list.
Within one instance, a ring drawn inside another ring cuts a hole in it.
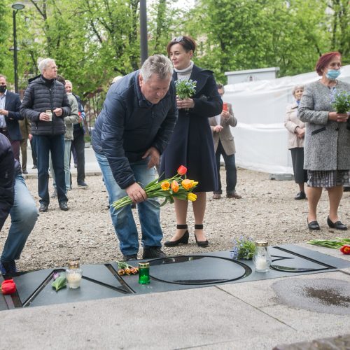
[{"label": "grey knee-length coat of the woman in blue face mask", "polygon": [[[336,91],[350,92],[350,85],[338,80]],[[304,169],[350,169],[350,131],[346,123],[328,120],[333,91],[320,80],[307,85],[302,94],[298,116],[306,123]]]}]

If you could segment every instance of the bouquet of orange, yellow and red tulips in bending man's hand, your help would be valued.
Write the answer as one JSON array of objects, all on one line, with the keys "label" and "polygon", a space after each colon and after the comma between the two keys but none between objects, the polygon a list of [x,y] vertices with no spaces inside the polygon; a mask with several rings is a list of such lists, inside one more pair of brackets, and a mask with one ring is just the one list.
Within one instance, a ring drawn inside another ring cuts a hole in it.
[{"label": "bouquet of orange, yellow and red tulips in bending man's hand", "polygon": [[[197,186],[198,182],[190,179],[186,179],[187,168],[181,165],[177,169],[177,174],[171,179],[165,179],[160,181],[159,178],[155,179],[144,188],[148,198],[160,198],[164,197],[165,200],[160,204],[160,207],[165,205],[168,201],[174,203],[174,198],[179,200],[190,200],[194,202],[197,200],[197,195],[192,193],[193,189]],[[112,207],[120,209],[125,205],[132,204],[132,200],[129,196],[125,196],[113,202]]]}]

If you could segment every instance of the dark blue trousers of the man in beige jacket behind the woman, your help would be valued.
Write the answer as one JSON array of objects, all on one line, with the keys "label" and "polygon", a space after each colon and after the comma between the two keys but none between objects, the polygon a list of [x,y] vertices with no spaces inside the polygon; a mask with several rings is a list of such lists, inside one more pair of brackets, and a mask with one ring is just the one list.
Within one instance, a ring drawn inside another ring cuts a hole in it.
[{"label": "dark blue trousers of the man in beige jacket behind the woman", "polygon": [[223,155],[223,160],[225,161],[225,169],[226,169],[226,194],[233,195],[236,190],[237,184],[237,169],[236,169],[236,161],[235,154],[227,155],[225,150],[223,149],[223,145],[221,141],[218,142],[218,148],[216,149],[215,157],[216,157],[216,168],[218,169],[218,190],[214,193],[223,193],[221,189],[221,178],[220,178],[220,157]]}]

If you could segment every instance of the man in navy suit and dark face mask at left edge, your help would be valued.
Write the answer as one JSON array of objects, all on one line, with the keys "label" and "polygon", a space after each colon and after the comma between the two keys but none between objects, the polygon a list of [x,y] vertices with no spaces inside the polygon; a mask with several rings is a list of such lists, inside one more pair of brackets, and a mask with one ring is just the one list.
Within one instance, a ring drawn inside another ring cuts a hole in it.
[{"label": "man in navy suit and dark face mask at left edge", "polygon": [[7,90],[6,77],[0,74],[0,134],[4,134],[10,140],[13,154],[18,162],[22,139],[18,120],[23,119],[20,105],[20,96]]}]

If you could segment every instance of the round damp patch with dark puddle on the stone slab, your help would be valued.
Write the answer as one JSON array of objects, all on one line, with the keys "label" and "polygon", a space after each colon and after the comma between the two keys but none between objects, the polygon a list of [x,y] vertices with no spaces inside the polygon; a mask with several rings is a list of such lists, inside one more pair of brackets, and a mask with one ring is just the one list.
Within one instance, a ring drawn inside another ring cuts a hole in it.
[{"label": "round damp patch with dark puddle on the stone slab", "polygon": [[340,279],[283,279],[272,284],[276,299],[290,307],[350,315],[350,283]]}]

